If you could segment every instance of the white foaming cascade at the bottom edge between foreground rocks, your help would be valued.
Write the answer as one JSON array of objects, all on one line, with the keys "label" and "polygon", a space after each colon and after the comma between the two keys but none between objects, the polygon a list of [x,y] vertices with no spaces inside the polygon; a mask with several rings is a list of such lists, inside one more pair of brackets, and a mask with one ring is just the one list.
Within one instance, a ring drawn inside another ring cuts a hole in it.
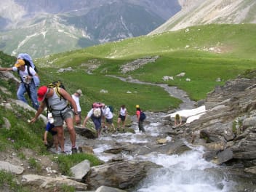
[{"label": "white foaming cascade at the bottom edge between foreground rocks", "polygon": [[228,181],[225,172],[215,171],[217,167],[202,158],[203,151],[188,151],[181,155],[168,156],[151,153],[145,157],[163,166],[154,170],[137,188],[137,192],[184,191],[184,192],[228,192],[233,181]]}]

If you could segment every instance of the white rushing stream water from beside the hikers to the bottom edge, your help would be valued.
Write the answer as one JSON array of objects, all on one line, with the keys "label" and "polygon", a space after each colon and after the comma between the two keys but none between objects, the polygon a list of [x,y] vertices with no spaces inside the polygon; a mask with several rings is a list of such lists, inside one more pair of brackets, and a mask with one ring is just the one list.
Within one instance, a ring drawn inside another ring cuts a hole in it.
[{"label": "white rushing stream water from beside the hikers to the bottom edge", "polygon": [[[161,121],[162,116],[159,114],[156,116]],[[110,153],[103,153],[106,149],[112,148],[111,143],[140,143],[140,145],[145,145],[146,143],[153,142],[154,138],[161,135],[162,125],[157,122],[156,118],[152,116],[150,118],[156,122],[145,126],[147,137],[143,137],[143,134],[138,132],[137,126],[134,125],[135,134],[119,133],[117,135],[101,137],[100,141],[106,144],[100,143],[97,145],[97,148],[94,149],[95,154],[103,161],[108,161],[116,156]],[[172,140],[171,137],[167,139],[169,142]],[[184,141],[184,143],[186,142]],[[142,180],[140,185],[134,189],[134,192],[235,191],[233,187],[236,186],[236,183],[228,180],[225,169],[205,161],[203,159],[204,149],[202,147],[193,147],[189,143],[186,144],[191,148],[191,151],[181,153],[180,155],[167,155],[158,151],[152,151],[146,156],[123,154],[123,159],[152,161],[162,166],[160,169],[153,170],[149,177]]]}]

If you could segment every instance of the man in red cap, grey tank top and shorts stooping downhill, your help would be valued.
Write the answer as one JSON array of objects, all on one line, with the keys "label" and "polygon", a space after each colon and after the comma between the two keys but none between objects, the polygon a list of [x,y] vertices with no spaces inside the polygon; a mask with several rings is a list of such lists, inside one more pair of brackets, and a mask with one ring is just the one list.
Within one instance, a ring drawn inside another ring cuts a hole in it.
[{"label": "man in red cap, grey tank top and shorts stooping downhill", "polygon": [[[58,87],[55,87],[58,88]],[[55,88],[49,88],[46,86],[39,87],[37,92],[38,100],[41,102],[39,109],[36,112],[36,115],[31,119],[31,123],[35,122],[38,119],[39,115],[44,111],[44,108],[49,106],[50,111],[52,111],[52,117],[54,119],[54,124],[57,129],[57,139],[60,143],[61,152],[64,151],[64,130],[63,123],[67,125],[72,148],[72,153],[77,153],[76,148],[76,131],[73,127],[73,114],[75,115],[76,122],[79,120],[79,113],[77,112],[76,102],[72,99],[71,95],[65,91],[63,88],[59,88],[58,92],[60,96],[57,95]],[[73,111],[68,106],[68,103],[71,104]]]}]

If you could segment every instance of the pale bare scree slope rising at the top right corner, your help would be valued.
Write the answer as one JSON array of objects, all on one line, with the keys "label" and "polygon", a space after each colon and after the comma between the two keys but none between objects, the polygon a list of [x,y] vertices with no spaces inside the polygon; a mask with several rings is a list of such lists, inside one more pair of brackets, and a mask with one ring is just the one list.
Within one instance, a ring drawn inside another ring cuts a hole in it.
[{"label": "pale bare scree slope rising at the top right corner", "polygon": [[149,35],[209,23],[256,23],[255,0],[180,0],[182,9]]}]

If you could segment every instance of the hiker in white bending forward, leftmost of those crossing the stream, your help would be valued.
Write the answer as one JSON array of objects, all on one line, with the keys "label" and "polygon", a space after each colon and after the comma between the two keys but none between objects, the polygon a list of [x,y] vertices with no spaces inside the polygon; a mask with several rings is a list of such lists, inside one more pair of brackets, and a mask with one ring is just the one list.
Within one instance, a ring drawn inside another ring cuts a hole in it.
[{"label": "hiker in white bending forward, leftmost of those crossing the stream", "polygon": [[87,117],[84,119],[83,127],[87,124],[89,118],[92,119],[95,125],[95,130],[97,132],[97,137],[100,137],[101,123],[103,118],[103,111],[101,109],[101,103],[93,103],[92,109],[87,113]]}]

